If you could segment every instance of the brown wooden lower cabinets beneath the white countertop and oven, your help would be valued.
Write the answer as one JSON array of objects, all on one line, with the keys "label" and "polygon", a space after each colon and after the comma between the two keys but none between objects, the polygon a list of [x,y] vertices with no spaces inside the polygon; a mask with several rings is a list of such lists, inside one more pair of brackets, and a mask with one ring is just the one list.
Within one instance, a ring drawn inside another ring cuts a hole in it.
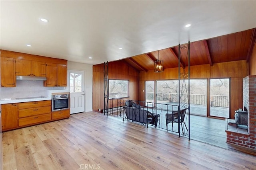
[{"label": "brown wooden lower cabinets beneath the white countertop and oven", "polygon": [[70,117],[70,109],[51,110],[51,100],[2,104],[2,131]]}]

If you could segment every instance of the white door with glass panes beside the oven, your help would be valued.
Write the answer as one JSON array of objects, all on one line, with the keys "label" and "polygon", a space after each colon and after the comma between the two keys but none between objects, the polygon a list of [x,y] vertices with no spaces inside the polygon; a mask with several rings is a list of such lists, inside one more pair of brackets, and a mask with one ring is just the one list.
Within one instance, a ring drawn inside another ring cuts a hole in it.
[{"label": "white door with glass panes beside the oven", "polygon": [[84,112],[84,71],[68,70],[70,114]]}]

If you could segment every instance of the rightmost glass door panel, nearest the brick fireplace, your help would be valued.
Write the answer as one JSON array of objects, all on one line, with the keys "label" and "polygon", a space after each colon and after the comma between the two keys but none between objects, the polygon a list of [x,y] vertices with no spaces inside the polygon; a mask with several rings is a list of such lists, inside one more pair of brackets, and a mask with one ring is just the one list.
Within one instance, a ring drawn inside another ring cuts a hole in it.
[{"label": "rightmost glass door panel, nearest the brick fireplace", "polygon": [[230,117],[230,79],[210,79],[210,116]]}]

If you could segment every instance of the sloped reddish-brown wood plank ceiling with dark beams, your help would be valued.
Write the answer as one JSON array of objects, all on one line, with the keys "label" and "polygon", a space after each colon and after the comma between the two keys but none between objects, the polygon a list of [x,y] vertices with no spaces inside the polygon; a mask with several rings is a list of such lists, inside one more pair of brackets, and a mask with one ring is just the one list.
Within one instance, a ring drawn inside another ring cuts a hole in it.
[{"label": "sloped reddish-brown wood plank ceiling with dark beams", "polygon": [[[190,65],[222,63],[247,60],[252,55],[256,42],[256,28],[237,33],[223,35],[212,39],[190,43]],[[180,66],[188,66],[188,44],[180,45]],[[138,71],[154,70],[154,61],[158,59],[158,51],[136,55],[123,59]],[[178,46],[159,50],[159,59],[164,60],[164,68],[178,67]]]}]

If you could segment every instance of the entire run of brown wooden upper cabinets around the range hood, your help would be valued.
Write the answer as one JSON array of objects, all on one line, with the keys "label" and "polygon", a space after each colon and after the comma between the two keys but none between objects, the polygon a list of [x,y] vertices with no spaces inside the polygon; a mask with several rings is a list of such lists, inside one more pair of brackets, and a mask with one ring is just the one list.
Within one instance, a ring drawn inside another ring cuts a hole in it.
[{"label": "entire run of brown wooden upper cabinets around the range hood", "polygon": [[46,77],[44,86],[67,86],[67,60],[1,50],[1,85],[16,87],[16,76]]}]

